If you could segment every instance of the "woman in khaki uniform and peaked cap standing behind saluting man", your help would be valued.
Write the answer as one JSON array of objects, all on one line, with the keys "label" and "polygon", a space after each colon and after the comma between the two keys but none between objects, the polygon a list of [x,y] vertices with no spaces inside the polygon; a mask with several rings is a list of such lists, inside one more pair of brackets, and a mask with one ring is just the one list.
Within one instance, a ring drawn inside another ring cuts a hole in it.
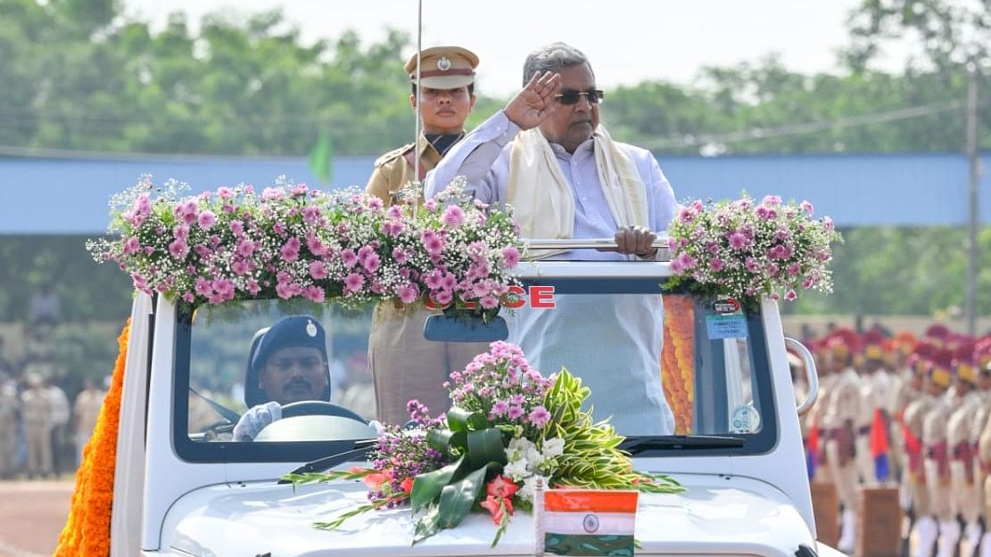
[{"label": "woman in khaki uniform and peaked cap standing behind saluting man", "polygon": [[[420,52],[420,118],[423,134],[416,144],[391,150],[376,160],[366,191],[386,206],[423,203],[421,182],[444,153],[465,136],[465,121],[475,108],[475,68],[479,57],[460,46],[435,46]],[[416,55],[404,66],[412,84],[409,103],[416,110]],[[418,175],[414,173],[419,153]],[[448,410],[442,384],[489,349],[484,342],[431,342],[423,338],[423,322],[437,313],[426,308],[380,304],[369,338],[369,366],[375,378],[378,417],[385,423],[409,419],[406,403],[417,399],[432,415]]]}]

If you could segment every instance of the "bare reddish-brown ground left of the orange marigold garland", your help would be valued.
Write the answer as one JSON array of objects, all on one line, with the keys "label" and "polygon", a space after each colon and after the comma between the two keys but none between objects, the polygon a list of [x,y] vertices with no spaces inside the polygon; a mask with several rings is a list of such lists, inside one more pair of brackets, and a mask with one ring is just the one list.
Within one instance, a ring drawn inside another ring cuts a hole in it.
[{"label": "bare reddish-brown ground left of the orange marigold garland", "polygon": [[74,480],[0,482],[0,557],[42,557],[55,552],[65,525]]}]

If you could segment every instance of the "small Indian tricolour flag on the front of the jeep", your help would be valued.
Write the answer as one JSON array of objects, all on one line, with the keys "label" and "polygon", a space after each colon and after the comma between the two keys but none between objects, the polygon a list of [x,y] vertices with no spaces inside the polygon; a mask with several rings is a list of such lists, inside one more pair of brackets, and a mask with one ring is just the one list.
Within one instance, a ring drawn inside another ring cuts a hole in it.
[{"label": "small Indian tricolour flag on the front of the jeep", "polygon": [[[537,509],[538,549],[555,555],[633,555],[635,491],[547,490]],[[538,555],[541,552],[538,551]]]}]

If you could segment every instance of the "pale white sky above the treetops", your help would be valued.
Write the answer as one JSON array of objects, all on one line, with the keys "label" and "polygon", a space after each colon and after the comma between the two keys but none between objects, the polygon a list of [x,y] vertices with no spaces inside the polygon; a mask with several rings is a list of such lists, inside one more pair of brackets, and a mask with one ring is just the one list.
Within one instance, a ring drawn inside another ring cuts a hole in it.
[{"label": "pale white sky above the treetops", "polygon": [[[506,95],[520,83],[536,46],[564,41],[585,51],[601,87],[644,79],[688,83],[705,65],[756,61],[771,52],[802,72],[838,71],[845,21],[859,0],[423,0],[423,46],[459,45],[482,59],[481,92]],[[221,10],[281,7],[306,40],[355,29],[373,42],[385,28],[415,42],[416,0],[124,0],[129,15],[161,25],[168,13],[190,21]],[[234,7],[234,8],[232,8]],[[408,52],[412,54],[412,48]],[[882,66],[895,69],[896,61]]]}]

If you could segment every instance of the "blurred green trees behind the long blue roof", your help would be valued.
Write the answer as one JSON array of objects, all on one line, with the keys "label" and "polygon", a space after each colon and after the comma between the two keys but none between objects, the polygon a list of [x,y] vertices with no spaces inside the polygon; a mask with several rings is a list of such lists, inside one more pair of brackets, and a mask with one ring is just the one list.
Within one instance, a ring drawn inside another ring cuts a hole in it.
[{"label": "blurred green trees behind the long blue roof", "polygon": [[[326,132],[337,153],[369,155],[409,139],[407,34],[304,44],[279,11],[193,27],[176,13],[153,31],[114,0],[0,0],[0,145],[301,155]],[[607,91],[604,120],[657,154],[962,150],[966,63],[872,70],[864,37],[851,29],[841,74],[797,73],[774,55],[704,67],[690,84]],[[471,125],[506,101],[480,93]],[[980,121],[987,147],[991,104]]]}]

